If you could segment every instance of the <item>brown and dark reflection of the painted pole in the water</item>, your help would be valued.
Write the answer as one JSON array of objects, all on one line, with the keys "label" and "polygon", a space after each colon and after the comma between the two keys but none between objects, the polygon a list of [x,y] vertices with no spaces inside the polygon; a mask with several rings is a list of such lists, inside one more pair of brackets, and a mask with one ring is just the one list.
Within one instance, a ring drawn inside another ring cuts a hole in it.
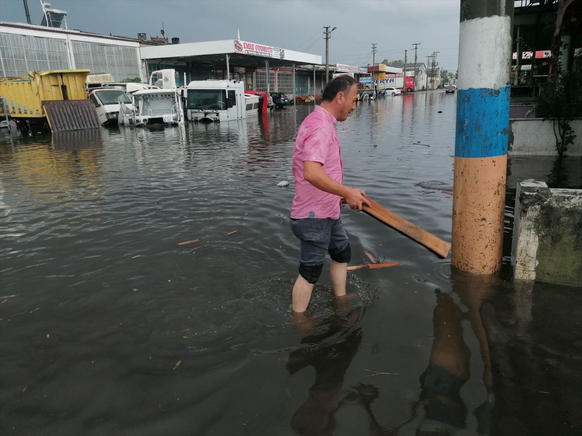
[{"label": "brown and dark reflection of the painted pole in the water", "polygon": [[[468,430],[469,434],[489,434],[495,396],[488,332],[482,312],[495,294],[497,282],[495,277],[472,276],[460,271],[453,272],[453,280],[451,294],[438,291],[436,294],[434,341],[427,369],[420,376],[421,392],[413,405],[411,419],[391,434],[445,436],[462,430]],[[471,333],[477,339],[481,362],[471,361],[471,344],[467,344],[473,342]],[[481,364],[482,373],[471,374],[471,367]],[[471,377],[480,377],[481,388],[477,392],[470,392],[474,383],[466,385]],[[469,396],[482,398],[473,410],[467,405]],[[474,416],[471,419],[470,413]]]}]

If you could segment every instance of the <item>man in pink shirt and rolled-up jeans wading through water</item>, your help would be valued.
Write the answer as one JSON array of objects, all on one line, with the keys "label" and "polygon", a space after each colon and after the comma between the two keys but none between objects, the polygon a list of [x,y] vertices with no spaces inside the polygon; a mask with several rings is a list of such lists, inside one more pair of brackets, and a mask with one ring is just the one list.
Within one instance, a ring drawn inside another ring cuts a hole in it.
[{"label": "man in pink shirt and rolled-up jeans wading through water", "polygon": [[293,151],[295,196],[291,207],[291,229],[301,241],[299,276],[293,286],[293,311],[305,312],[313,285],[321,275],[325,254],[331,257],[333,294],[346,294],[347,263],[352,259],[350,243],[340,220],[342,198],[350,208],[371,206],[364,191],[343,185],[342,153],[336,121],[345,121],[356,109],[358,88],[350,76],[339,76],[327,84],[320,106],[303,120]]}]

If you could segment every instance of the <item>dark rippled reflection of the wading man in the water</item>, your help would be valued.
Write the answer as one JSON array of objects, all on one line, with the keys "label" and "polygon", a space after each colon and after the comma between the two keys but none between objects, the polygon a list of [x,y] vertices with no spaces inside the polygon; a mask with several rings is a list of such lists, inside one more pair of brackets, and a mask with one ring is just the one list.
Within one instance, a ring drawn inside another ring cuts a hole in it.
[{"label": "dark rippled reflection of the wading man in the water", "polygon": [[316,324],[303,313],[293,314],[296,330],[303,338],[301,348],[290,353],[287,370],[293,375],[311,365],[315,369],[315,383],[306,401],[293,415],[291,427],[302,436],[331,435],[338,410],[345,405],[358,404],[369,417],[370,434],[380,435],[381,427],[370,408],[370,403],[378,397],[378,389],[364,384],[342,389],[346,370],[361,344],[362,330],[356,327],[360,309],[346,312],[345,297],[339,298],[337,303],[335,315],[325,325]]}]

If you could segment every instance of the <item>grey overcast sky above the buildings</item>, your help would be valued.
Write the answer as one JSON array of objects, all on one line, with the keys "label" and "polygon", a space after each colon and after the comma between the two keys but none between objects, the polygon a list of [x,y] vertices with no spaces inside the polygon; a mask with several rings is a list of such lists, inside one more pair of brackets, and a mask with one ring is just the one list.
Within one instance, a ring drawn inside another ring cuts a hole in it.
[{"label": "grey overcast sky above the buildings", "polygon": [[[325,62],[323,26],[335,26],[329,41],[329,63],[363,66],[403,59],[408,49],[418,62],[439,51],[438,62],[457,69],[459,0],[48,0],[66,10],[69,28],[95,33],[137,37],[145,32],[180,42],[240,38],[290,50],[321,55]],[[41,7],[28,0],[33,24],[40,24]],[[2,21],[26,23],[22,0],[0,1]]]}]

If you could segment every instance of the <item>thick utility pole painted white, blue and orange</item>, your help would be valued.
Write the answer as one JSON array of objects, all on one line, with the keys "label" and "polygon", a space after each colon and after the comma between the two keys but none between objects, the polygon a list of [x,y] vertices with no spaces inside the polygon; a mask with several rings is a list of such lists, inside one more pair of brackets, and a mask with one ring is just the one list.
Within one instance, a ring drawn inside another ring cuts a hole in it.
[{"label": "thick utility pole painted white, blue and orange", "polygon": [[501,269],[513,0],[461,0],[452,265]]}]

